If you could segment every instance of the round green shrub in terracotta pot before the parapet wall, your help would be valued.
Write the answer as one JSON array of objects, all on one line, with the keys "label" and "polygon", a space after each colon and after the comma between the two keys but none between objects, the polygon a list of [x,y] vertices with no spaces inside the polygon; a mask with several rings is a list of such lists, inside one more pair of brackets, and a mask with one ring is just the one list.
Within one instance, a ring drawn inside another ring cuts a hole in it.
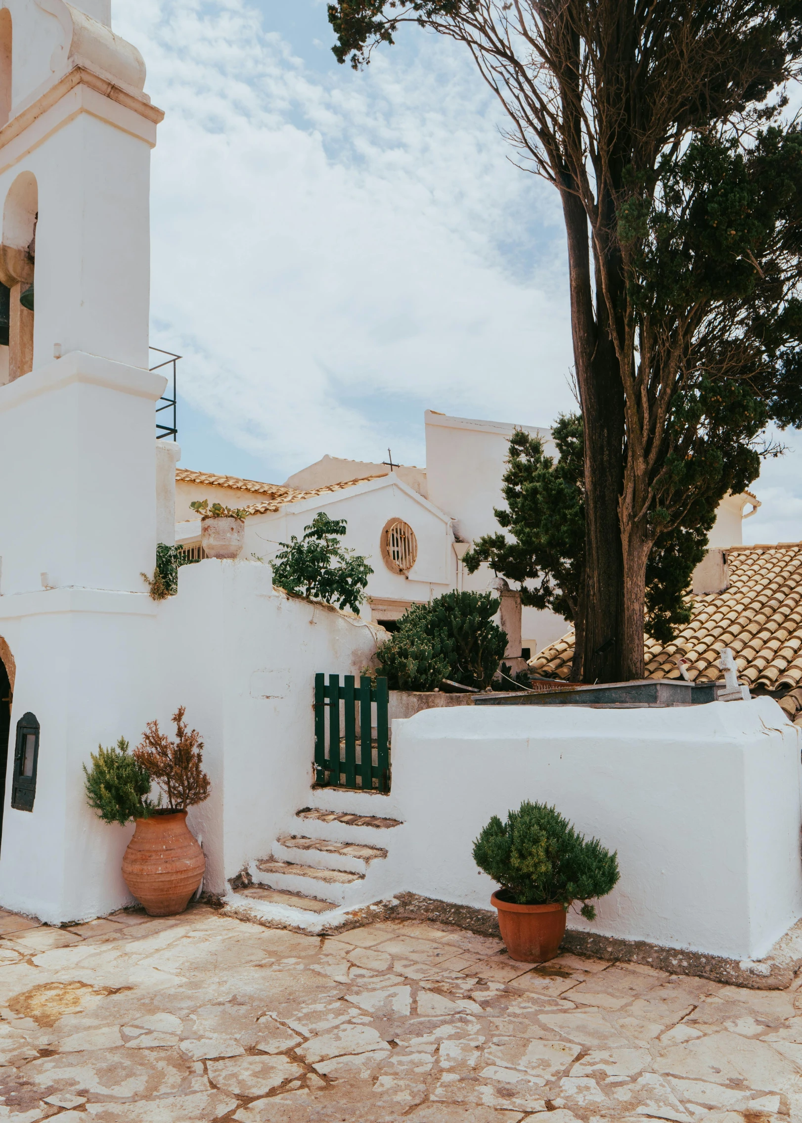
[{"label": "round green shrub in terracotta pot before the parapet wall", "polygon": [[491,897],[501,938],[510,957],[525,964],[554,959],[569,906],[582,901],[582,915],[594,920],[587,902],[610,893],[619,878],[618,856],[545,803],[525,801],[505,823],[493,815],[473,857],[501,886]]}]

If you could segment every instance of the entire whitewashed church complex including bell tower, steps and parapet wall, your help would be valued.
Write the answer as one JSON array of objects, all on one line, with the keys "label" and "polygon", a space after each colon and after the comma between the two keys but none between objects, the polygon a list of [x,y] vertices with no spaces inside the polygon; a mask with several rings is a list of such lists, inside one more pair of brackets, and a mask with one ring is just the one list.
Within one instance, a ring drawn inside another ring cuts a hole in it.
[{"label": "entire whitewashed church complex including bell tower, steps and parapet wall", "polygon": [[[243,909],[245,870],[265,893],[307,901],[304,912],[254,900],[252,917],[313,928],[322,906],[335,924],[403,891],[487,909],[495,885],[472,841],[528,797],[618,850],[621,880],[596,931],[764,956],[802,916],[802,731],[771,697],[427,703],[392,722],[381,792],[320,783],[316,676],[330,676],[329,691],[358,678],[386,638],[379,621],[486,587],[491,575],[470,578],[461,559],[495,529],[513,426],[431,411],[425,469],[323,458],[282,485],[176,474],[180,447],[155,441],[166,380],[148,369],[149,157],[163,113],[144,84],[109,0],[2,0],[0,906],[62,924],[134,903],[120,869],[133,824],[92,813],[83,766],[99,743],[136,745],[148,721],[170,728],[184,705],[211,779],[189,816],[204,888]],[[203,497],[253,508],[245,550],[182,566],[177,594],[155,601],[142,574],[176,528],[197,548],[189,503]],[[714,545],[740,541],[755,502],[724,501]],[[346,519],[347,545],[372,560],[363,617],[273,586],[277,544],[319,510]],[[549,627],[528,617],[510,642],[541,647]],[[367,676],[359,688],[372,752],[379,702]],[[329,705],[335,746],[338,714]],[[343,856],[349,842],[362,857]]]}]

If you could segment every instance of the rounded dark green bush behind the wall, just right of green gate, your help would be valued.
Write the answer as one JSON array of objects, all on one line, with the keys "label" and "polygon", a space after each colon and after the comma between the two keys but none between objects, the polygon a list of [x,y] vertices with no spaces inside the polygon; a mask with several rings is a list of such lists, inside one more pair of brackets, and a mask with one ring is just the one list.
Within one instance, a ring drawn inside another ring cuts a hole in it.
[{"label": "rounded dark green bush behind the wall, just right of green gate", "polygon": [[376,658],[394,690],[431,691],[444,678],[483,690],[499,669],[507,633],[492,593],[445,593],[413,604]]}]

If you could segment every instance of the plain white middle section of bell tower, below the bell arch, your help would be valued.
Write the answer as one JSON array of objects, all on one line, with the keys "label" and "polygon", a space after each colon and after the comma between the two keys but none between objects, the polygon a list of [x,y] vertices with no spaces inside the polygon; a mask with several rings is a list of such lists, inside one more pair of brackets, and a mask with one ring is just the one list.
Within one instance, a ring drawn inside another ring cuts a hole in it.
[{"label": "plain white middle section of bell tower, below the bell arch", "polygon": [[62,587],[144,591],[156,547],[154,401],[164,385],[73,353],[0,387],[3,594],[42,590],[42,573]]}]

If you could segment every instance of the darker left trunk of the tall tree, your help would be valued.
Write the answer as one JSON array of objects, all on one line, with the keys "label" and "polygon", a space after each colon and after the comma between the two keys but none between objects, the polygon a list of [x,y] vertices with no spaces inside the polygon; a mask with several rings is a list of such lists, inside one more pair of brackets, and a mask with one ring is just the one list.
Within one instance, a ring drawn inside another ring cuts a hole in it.
[{"label": "darker left trunk of the tall tree", "polygon": [[[587,217],[573,192],[564,190],[562,198],[568,235],[571,328],[585,445],[582,681],[611,683],[625,677],[623,558],[618,523],[622,482],[623,386],[607,327],[607,307],[600,292],[595,314],[593,311]],[[577,629],[577,640],[580,634]]]}]

